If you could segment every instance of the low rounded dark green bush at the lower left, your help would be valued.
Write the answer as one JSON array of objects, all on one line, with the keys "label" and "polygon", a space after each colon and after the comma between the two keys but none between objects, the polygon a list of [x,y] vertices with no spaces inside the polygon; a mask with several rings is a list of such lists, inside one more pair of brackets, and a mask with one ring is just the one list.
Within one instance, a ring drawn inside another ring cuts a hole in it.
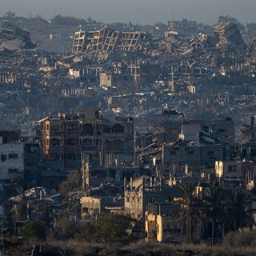
[{"label": "low rounded dark green bush at the lower left", "polygon": [[46,239],[46,227],[43,222],[26,222],[21,230],[22,238],[37,238],[39,241]]}]

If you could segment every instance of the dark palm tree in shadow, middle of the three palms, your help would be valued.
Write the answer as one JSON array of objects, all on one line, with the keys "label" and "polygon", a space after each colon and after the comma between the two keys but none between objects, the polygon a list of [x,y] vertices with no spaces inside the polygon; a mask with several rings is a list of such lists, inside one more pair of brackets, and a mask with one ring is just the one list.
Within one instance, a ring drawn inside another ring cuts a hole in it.
[{"label": "dark palm tree in shadow, middle of the three palms", "polygon": [[202,200],[205,206],[206,218],[211,222],[212,245],[215,243],[215,226],[225,216],[225,190],[218,186],[208,186],[202,191]]}]

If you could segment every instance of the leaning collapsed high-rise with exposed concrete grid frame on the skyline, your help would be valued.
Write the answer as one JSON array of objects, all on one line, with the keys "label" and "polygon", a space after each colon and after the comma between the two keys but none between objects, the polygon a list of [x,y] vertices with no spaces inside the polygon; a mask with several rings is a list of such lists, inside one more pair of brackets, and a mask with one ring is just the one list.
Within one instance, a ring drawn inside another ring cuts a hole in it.
[{"label": "leaning collapsed high-rise with exposed concrete grid frame on the skyline", "polygon": [[73,52],[146,50],[150,41],[145,31],[118,32],[109,28],[74,33]]}]

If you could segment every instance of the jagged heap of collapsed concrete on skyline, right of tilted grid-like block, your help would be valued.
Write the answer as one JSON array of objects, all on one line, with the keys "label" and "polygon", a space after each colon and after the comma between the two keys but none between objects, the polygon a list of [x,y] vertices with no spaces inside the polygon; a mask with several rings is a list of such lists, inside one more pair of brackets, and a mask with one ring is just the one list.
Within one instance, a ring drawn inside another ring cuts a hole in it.
[{"label": "jagged heap of collapsed concrete on skyline, right of tilted grid-like block", "polygon": [[158,49],[151,50],[152,56],[170,54],[175,58],[210,59],[223,51],[234,51],[237,55],[245,56],[246,43],[242,39],[237,24],[220,22],[214,26],[214,35],[203,32],[193,38],[185,38],[176,31],[165,33],[165,39],[159,42]]}]

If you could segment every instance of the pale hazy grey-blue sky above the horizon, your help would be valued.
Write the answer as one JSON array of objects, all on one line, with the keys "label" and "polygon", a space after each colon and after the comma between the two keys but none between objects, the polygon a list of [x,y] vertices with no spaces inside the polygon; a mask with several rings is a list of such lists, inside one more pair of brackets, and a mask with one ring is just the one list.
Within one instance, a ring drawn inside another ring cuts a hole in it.
[{"label": "pale hazy grey-blue sky above the horizon", "polygon": [[0,0],[0,16],[11,10],[17,16],[53,18],[56,14],[102,22],[135,24],[195,20],[213,25],[220,15],[238,22],[256,22],[256,0]]}]

